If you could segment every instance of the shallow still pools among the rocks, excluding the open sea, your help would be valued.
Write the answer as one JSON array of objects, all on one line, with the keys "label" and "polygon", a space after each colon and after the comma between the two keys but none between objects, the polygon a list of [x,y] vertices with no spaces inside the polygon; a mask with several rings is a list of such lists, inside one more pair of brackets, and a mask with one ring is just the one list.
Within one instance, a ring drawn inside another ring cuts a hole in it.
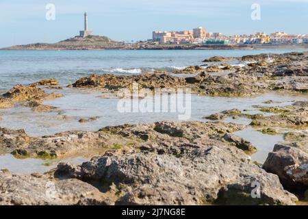
[{"label": "shallow still pools among the rocks, excluding the open sea", "polygon": [[[0,110],[3,120],[0,120],[0,127],[11,129],[25,129],[29,136],[47,136],[61,131],[85,130],[97,131],[98,129],[109,125],[123,125],[124,123],[153,123],[158,120],[179,120],[177,113],[120,113],[117,110],[119,99],[101,99],[97,96],[101,92],[65,88],[57,91],[65,96],[59,99],[45,101],[45,104],[58,107],[56,112],[37,113],[32,112],[28,107],[15,107],[13,109]],[[275,100],[279,103],[264,104],[262,102]],[[290,105],[295,100],[308,100],[304,95],[281,95],[277,93],[263,94],[251,98],[227,98],[212,96],[192,95],[191,116],[189,120],[201,120],[204,116],[218,113],[223,110],[238,108],[240,110],[249,110],[249,114],[262,113],[252,107],[252,105]],[[264,114],[264,113],[262,113]],[[271,114],[265,114],[270,116]],[[65,116],[65,118],[63,118]],[[79,123],[80,118],[90,118],[98,116],[98,119],[88,123]],[[227,118],[228,123],[240,123],[248,125],[251,123],[247,118]],[[274,144],[283,141],[283,136],[264,135],[249,127],[235,133],[237,136],[251,141],[258,149],[257,153],[252,155],[252,159],[263,163],[272,151]],[[89,158],[88,158],[89,159]],[[75,163],[81,164],[86,159],[73,159]],[[0,156],[0,169],[8,168],[13,172],[45,172],[54,166],[43,166],[46,161],[40,159],[15,159],[12,155]],[[58,160],[53,163],[60,162]]]}]

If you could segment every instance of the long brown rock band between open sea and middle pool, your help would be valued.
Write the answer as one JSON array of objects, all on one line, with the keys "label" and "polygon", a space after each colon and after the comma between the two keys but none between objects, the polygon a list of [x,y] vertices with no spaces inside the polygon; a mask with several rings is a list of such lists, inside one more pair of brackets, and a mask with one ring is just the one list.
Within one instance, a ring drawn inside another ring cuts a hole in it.
[{"label": "long brown rock band between open sea and middle pool", "polygon": [[[247,55],[237,58],[254,62],[244,67],[227,64],[215,66],[216,72],[231,71],[227,75],[211,75],[214,66],[192,66],[175,73],[197,74],[177,77],[168,73],[149,73],[132,76],[90,75],[73,83],[75,88],[105,88],[112,92],[130,88],[133,82],[141,88],[191,88],[192,92],[211,96],[253,96],[279,90],[283,92],[308,92],[308,53]],[[234,58],[233,58],[234,59]],[[210,59],[209,61],[213,61]],[[216,61],[216,60],[214,60]],[[218,70],[217,70],[218,69]]]}]

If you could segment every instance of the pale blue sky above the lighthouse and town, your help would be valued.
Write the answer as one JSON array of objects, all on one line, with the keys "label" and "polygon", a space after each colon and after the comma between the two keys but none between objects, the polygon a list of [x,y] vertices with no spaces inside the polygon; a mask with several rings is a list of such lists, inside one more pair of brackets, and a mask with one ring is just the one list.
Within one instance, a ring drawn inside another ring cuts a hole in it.
[{"label": "pale blue sky above the lighthouse and town", "polygon": [[[55,21],[45,18],[47,3],[55,5]],[[253,3],[261,5],[261,21],[251,20]],[[94,34],[121,41],[198,26],[227,35],[308,34],[308,0],[0,0],[0,47],[75,36],[83,29],[84,11]]]}]

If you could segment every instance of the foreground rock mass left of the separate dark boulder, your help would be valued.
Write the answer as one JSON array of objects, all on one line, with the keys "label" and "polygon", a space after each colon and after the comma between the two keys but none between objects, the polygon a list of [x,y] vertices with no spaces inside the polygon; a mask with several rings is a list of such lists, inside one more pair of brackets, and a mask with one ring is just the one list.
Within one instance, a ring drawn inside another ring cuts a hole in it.
[{"label": "foreground rock mass left of the separate dark boulder", "polygon": [[[250,163],[242,146],[251,143],[232,138],[232,132],[242,128],[232,123],[162,122],[105,127],[97,133],[88,133],[90,137],[78,132],[43,137],[34,142],[53,148],[55,154],[63,149],[86,153],[89,147],[96,146],[108,150],[81,166],[61,163],[47,175],[34,175],[39,179],[4,171],[0,178],[1,190],[14,187],[21,192],[2,192],[0,203],[72,204],[73,199],[73,204],[111,205],[294,204],[296,196],[283,189],[277,175]],[[8,142],[8,138],[12,140],[14,136],[14,143],[7,144],[10,150],[17,145],[24,151],[36,149],[35,144],[22,144],[23,135],[22,131],[14,134],[7,131],[1,134],[1,142]],[[107,136],[110,140],[129,142],[111,144],[106,141]],[[15,183],[10,184],[12,181]],[[42,189],[31,186],[35,182]],[[44,185],[50,182],[55,183],[55,194],[48,199]],[[84,182],[99,183],[105,189],[99,192]],[[260,184],[261,198],[251,197],[253,182]],[[77,191],[73,189],[74,184],[78,185]],[[89,192],[89,196],[81,196]],[[63,196],[62,193],[68,194]]]}]

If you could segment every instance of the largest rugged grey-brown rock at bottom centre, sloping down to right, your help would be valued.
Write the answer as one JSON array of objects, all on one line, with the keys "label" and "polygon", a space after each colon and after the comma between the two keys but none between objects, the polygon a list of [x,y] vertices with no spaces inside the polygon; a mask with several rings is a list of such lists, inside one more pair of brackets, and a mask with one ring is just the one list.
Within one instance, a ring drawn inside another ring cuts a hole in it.
[{"label": "largest rugged grey-brown rock at bottom centre, sloping down to right", "polygon": [[[223,144],[183,148],[181,155],[133,152],[94,157],[81,166],[60,164],[57,176],[118,185],[116,205],[293,205],[276,175],[248,164]],[[253,198],[258,186],[260,196]]]}]

